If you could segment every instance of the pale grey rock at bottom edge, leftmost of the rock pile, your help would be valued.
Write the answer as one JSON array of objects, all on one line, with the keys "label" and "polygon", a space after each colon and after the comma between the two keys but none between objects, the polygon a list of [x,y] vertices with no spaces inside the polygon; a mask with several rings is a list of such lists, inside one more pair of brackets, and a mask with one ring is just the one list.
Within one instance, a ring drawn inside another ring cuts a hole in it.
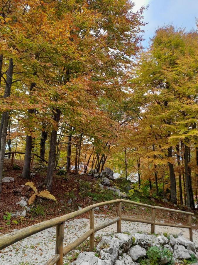
[{"label": "pale grey rock at bottom edge, leftmost of the rock pile", "polygon": [[111,265],[111,262],[99,259],[94,252],[83,252],[78,255],[77,260],[72,262],[71,265]]}]

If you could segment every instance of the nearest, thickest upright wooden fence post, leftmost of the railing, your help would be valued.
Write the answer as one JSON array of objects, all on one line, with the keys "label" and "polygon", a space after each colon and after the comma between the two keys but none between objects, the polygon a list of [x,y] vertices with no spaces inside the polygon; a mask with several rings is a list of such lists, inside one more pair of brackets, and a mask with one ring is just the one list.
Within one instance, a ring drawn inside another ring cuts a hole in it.
[{"label": "nearest, thickest upright wooden fence post, leftmost of the railing", "polygon": [[56,265],[63,265],[63,239],[64,239],[64,223],[56,226],[56,254],[60,255]]}]

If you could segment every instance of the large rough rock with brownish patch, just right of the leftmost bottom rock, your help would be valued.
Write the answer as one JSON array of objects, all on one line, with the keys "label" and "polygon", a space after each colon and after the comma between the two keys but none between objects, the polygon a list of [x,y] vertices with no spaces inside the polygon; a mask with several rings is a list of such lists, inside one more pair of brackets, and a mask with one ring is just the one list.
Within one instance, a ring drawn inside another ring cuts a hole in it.
[{"label": "large rough rock with brownish patch, just right of the leftmost bottom rock", "polygon": [[96,247],[96,251],[100,254],[101,259],[107,259],[113,265],[118,257],[119,247],[119,239],[111,238],[111,236],[103,236]]}]

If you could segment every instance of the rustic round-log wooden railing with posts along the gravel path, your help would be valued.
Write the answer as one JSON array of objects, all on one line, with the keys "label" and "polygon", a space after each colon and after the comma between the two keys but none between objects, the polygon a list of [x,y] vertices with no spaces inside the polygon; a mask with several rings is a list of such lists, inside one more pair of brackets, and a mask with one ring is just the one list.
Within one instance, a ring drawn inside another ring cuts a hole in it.
[{"label": "rustic round-log wooden railing with posts along the gravel path", "polygon": [[[135,204],[138,206],[144,206],[151,208],[151,220],[144,220],[144,219],[137,219],[137,218],[131,218],[131,217],[126,217],[122,216],[122,202],[123,203],[131,203]],[[117,217],[112,219],[111,221],[108,221],[106,223],[103,223],[100,226],[94,227],[94,208],[100,207],[103,205],[107,204],[113,204],[117,203],[118,204],[118,210],[117,210]],[[155,209],[158,210],[163,210],[163,211],[170,211],[174,213],[183,213],[188,215],[188,224],[189,225],[176,225],[172,223],[160,223],[160,222],[155,222]],[[70,243],[69,245],[63,247],[63,239],[64,239],[64,222],[75,218],[83,213],[86,213],[89,211],[89,223],[90,223],[90,229],[86,233],[84,233],[82,236],[77,238],[74,242]],[[66,215],[56,217],[53,219],[50,219],[48,221],[44,221],[41,223],[37,223],[33,226],[28,226],[26,228],[22,228],[18,231],[14,231],[12,233],[6,234],[4,236],[0,237],[0,250],[4,249],[7,246],[10,246],[21,239],[24,239],[28,236],[31,236],[35,233],[38,233],[40,231],[43,231],[47,228],[56,226],[56,248],[55,248],[55,255],[49,259],[45,265],[63,265],[63,256],[65,256],[67,253],[75,249],[77,246],[79,246],[82,242],[84,242],[88,237],[89,237],[89,249],[90,251],[94,250],[94,233],[107,227],[110,226],[111,224],[117,223],[117,232],[121,232],[121,221],[131,221],[131,222],[139,222],[139,223],[148,223],[151,224],[151,233],[155,233],[155,226],[172,226],[172,227],[180,227],[180,228],[188,228],[189,229],[189,238],[192,241],[192,215],[193,213],[190,212],[185,212],[185,211],[180,211],[180,210],[174,210],[174,209],[169,209],[169,208],[163,208],[159,206],[152,206],[148,204],[143,204],[143,203],[137,203],[134,201],[129,201],[129,200],[123,200],[123,199],[117,199],[117,200],[112,200],[112,201],[105,201],[101,203],[96,203],[90,206],[87,206],[81,210],[68,213]]]}]

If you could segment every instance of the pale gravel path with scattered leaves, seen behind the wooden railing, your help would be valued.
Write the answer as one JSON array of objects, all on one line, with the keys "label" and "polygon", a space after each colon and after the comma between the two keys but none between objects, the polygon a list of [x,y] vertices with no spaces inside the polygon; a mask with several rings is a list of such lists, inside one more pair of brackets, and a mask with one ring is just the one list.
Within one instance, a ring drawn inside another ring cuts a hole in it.
[{"label": "pale gravel path with scattered leaves, seen behind the wooden railing", "polygon": [[[101,225],[109,218],[96,215],[95,226]],[[73,219],[65,222],[64,226],[64,245],[67,245],[89,230],[89,219]],[[113,224],[95,233],[98,235],[106,235],[115,233],[117,224]],[[141,231],[150,232],[150,225],[143,223],[132,223],[122,221],[122,232],[130,233]],[[185,228],[174,228],[165,226],[155,226],[155,233],[168,232],[170,234],[183,233],[185,238],[189,238],[189,230]],[[25,238],[0,252],[0,265],[32,265],[44,264],[51,256],[55,254],[55,227],[44,230],[33,236]],[[198,230],[193,230],[193,241],[198,244]],[[67,261],[67,256],[64,257]],[[68,261],[67,261],[68,262]]]}]

